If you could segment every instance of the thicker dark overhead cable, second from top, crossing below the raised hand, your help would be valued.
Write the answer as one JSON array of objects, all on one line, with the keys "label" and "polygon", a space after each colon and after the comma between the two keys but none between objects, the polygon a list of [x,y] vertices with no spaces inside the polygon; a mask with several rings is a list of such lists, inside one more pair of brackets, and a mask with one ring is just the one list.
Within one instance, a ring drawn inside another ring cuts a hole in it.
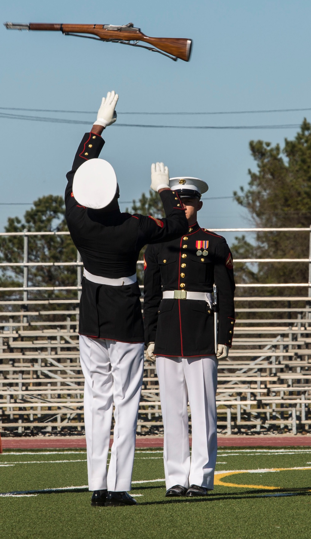
[{"label": "thicker dark overhead cable, second from top, crossing below the raised hand", "polygon": [[[23,114],[0,113],[0,118],[9,120],[27,120],[33,122],[70,123],[74,125],[93,125],[93,120],[67,120],[65,118],[46,118],[45,116],[29,116]],[[163,126],[144,123],[116,123],[115,127],[140,127],[153,129],[298,129],[299,123],[286,123],[281,125],[264,126]]]}]

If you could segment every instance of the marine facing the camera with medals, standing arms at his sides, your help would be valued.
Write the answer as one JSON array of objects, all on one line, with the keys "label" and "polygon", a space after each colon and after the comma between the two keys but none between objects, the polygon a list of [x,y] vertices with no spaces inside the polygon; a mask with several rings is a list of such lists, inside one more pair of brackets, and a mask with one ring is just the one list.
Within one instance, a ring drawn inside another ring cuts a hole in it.
[{"label": "marine facing the camera with medals, standing arms at his sides", "polygon": [[146,357],[156,360],[160,385],[166,496],[204,496],[213,489],[217,457],[218,360],[228,356],[235,322],[233,261],[226,240],[197,222],[208,185],[184,176],[170,186],[188,230],[144,254]]}]

